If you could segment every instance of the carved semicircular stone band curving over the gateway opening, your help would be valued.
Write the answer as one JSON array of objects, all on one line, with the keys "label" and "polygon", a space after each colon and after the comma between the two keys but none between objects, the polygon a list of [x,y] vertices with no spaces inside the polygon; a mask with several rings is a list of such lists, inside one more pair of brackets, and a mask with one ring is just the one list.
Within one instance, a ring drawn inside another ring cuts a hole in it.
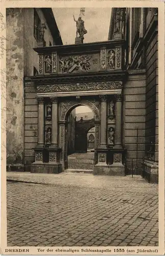
[{"label": "carved semicircular stone band curving over the gateway opening", "polygon": [[93,112],[94,119],[100,120],[99,110],[92,102],[90,102],[89,100],[81,100],[80,102],[75,100],[75,101],[70,101],[65,105],[65,107],[61,111],[60,121],[66,120],[66,116],[67,116],[68,112],[72,111],[74,108],[76,108],[77,106],[80,106],[80,105],[88,106],[91,109],[91,111]]}]

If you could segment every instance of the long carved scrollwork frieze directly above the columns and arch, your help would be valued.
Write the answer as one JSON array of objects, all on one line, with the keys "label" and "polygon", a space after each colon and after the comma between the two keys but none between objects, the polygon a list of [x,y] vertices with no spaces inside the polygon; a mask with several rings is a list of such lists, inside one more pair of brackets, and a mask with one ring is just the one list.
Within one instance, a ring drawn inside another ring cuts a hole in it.
[{"label": "long carved scrollwork frieze directly above the columns and arch", "polygon": [[48,84],[37,86],[37,92],[70,92],[70,91],[93,91],[121,89],[122,81],[69,83],[69,84]]}]

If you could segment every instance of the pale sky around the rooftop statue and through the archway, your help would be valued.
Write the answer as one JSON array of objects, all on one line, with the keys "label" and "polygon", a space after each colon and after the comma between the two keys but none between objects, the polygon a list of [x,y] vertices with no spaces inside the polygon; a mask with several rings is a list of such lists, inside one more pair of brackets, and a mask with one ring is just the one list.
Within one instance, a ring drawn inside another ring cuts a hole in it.
[{"label": "pale sky around the rooftop statue and through the archway", "polygon": [[[83,6],[82,6],[83,7]],[[76,22],[80,15],[80,8],[53,8],[58,29],[63,45],[75,44]],[[111,8],[85,8],[84,27],[87,34],[84,35],[84,42],[107,41],[110,25]],[[79,106],[76,113],[90,112],[87,106]]]}]

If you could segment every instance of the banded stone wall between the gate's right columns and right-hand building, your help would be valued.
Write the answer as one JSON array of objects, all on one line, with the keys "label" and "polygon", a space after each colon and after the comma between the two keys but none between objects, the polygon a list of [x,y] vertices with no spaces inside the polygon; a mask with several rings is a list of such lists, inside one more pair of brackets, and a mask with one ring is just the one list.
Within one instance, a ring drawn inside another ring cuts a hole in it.
[{"label": "banded stone wall between the gate's right columns and right-hand building", "polygon": [[136,166],[136,132],[138,128],[137,162],[142,169],[145,156],[145,99],[146,75],[144,70],[129,71],[129,78],[124,85],[123,100],[123,145],[127,148],[127,167]]}]

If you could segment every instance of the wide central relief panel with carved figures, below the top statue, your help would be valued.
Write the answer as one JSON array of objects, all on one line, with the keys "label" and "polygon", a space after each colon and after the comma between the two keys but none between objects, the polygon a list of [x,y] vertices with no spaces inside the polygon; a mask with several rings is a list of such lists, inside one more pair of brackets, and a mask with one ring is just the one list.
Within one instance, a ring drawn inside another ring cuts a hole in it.
[{"label": "wide central relief panel with carved figures, below the top statue", "polygon": [[99,54],[59,56],[59,72],[75,73],[98,71]]}]

